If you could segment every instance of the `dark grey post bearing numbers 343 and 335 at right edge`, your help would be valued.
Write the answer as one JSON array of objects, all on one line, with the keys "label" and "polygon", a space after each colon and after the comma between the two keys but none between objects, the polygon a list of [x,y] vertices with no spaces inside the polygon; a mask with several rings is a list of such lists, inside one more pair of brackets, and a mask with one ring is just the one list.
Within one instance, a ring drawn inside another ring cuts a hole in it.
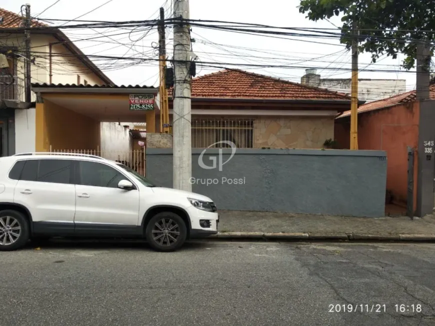
[{"label": "dark grey post bearing numbers 343 and 335 at right edge", "polygon": [[429,100],[430,45],[417,43],[416,96],[419,105],[417,201],[415,214],[431,214],[435,205],[435,101]]}]

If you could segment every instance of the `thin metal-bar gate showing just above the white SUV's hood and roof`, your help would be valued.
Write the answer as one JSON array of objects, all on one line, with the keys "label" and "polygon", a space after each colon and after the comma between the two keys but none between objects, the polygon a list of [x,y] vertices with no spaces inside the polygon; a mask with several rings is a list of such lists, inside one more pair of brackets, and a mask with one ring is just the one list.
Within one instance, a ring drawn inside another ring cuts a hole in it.
[{"label": "thin metal-bar gate showing just above the white SUV's hood and roof", "polygon": [[105,159],[114,160],[122,163],[137,173],[145,176],[146,174],[146,158],[145,151],[142,150],[100,150],[98,149],[53,149],[50,146],[52,153],[71,153],[71,154],[85,154],[95,155]]}]

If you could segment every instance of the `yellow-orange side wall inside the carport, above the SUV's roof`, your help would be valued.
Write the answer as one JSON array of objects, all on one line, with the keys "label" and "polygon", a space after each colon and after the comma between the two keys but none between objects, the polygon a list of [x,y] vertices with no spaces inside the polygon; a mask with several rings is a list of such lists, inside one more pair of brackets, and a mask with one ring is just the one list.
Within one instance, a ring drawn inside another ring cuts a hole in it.
[{"label": "yellow-orange side wall inside the carport, above the SUV's roof", "polygon": [[100,122],[44,99],[36,104],[36,151],[97,149]]}]

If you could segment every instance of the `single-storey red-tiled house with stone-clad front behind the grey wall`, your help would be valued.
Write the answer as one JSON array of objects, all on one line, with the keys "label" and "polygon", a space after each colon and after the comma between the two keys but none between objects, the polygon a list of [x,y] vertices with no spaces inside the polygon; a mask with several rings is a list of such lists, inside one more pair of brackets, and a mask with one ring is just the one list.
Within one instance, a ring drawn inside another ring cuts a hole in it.
[{"label": "single-storey red-tiled house with stone-clad front behind the grey wall", "polygon": [[193,78],[191,87],[192,147],[199,148],[222,140],[245,148],[322,148],[333,138],[335,116],[350,107],[345,94],[239,69]]}]

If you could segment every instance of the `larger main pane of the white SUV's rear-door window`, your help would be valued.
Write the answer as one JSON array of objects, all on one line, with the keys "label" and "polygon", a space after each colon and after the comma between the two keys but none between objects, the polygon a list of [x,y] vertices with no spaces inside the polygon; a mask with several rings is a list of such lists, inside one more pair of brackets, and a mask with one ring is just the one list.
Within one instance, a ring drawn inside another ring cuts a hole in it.
[{"label": "larger main pane of the white SUV's rear-door window", "polygon": [[51,183],[69,183],[71,160],[39,159],[39,169],[36,181]]}]

